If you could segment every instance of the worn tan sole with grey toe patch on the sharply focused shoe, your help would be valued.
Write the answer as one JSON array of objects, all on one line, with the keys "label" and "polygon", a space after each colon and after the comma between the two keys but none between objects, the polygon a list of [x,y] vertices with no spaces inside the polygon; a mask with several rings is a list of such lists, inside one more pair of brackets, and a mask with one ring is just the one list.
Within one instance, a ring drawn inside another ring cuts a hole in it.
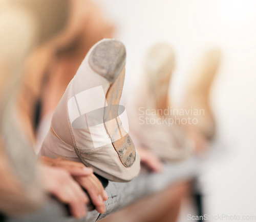
[{"label": "worn tan sole with grey toe patch on the sharply focused shoe", "polygon": [[[92,51],[89,64],[96,73],[111,83],[106,94],[106,102],[109,106],[104,108],[104,126],[112,139],[117,131],[118,135],[124,135],[120,139],[115,140],[114,138],[112,144],[122,164],[125,167],[130,167],[136,159],[136,151],[131,137],[124,131],[118,116],[122,93],[120,89],[123,88],[125,76],[125,59],[125,47],[121,42],[103,41]],[[106,122],[112,119],[115,119],[117,124],[114,127],[106,126]]]}]

